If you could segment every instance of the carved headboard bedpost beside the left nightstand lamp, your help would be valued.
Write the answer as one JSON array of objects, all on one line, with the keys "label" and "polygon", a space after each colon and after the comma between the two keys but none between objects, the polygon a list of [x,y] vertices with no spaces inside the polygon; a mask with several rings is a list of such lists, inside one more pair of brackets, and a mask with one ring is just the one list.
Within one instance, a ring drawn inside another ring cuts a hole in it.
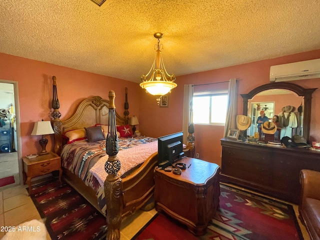
[{"label": "carved headboard bedpost beside the left nightstand lamp", "polygon": [[59,99],[58,99],[58,93],[56,90],[56,77],[52,76],[53,80],[53,96],[52,96],[52,118],[53,118],[53,131],[54,131],[54,138],[55,138],[55,146],[54,146],[54,152],[57,154],[60,154],[61,151],[61,133],[60,133],[60,128],[61,128],[61,121],[60,121],[60,116],[61,113],[59,112]]}]

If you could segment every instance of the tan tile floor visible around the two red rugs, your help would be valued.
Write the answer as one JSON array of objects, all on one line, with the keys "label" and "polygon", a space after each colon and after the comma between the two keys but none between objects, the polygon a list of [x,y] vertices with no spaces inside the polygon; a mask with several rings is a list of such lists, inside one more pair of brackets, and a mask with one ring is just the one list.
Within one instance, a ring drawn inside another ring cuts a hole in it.
[{"label": "tan tile floor visible around the two red rugs", "polygon": [[[31,219],[41,220],[41,217],[35,208],[32,200],[28,197],[25,185],[18,185],[0,191],[0,226],[15,226]],[[241,188],[243,189],[243,188]],[[297,205],[294,205],[296,217],[298,219]],[[120,229],[121,240],[129,240],[136,232],[156,213],[153,208],[150,211],[138,210],[135,214],[124,217]],[[299,220],[298,220],[299,221]],[[302,234],[305,240],[309,240],[309,236],[305,227],[299,221]],[[0,232],[0,239],[4,232]],[[46,239],[51,239],[46,234]]]}]

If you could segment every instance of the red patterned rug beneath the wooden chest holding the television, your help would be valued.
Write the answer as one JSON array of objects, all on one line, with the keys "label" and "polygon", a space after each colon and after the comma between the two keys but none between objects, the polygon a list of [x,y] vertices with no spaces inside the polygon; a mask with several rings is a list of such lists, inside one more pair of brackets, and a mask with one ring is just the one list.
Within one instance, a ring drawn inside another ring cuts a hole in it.
[{"label": "red patterned rug beneath the wooden chest holding the television", "polygon": [[132,239],[301,240],[292,205],[220,183],[218,210],[206,234],[195,237],[165,214],[155,215]]}]

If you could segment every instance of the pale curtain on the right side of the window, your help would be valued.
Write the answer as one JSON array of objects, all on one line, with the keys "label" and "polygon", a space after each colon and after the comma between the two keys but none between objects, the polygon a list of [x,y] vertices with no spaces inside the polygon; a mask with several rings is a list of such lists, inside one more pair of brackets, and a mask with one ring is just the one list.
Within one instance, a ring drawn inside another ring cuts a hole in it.
[{"label": "pale curtain on the right side of the window", "polygon": [[237,87],[236,78],[229,80],[228,86],[228,103],[226,111],[226,119],[224,125],[224,134],[226,137],[229,129],[236,129],[236,115],[237,115]]}]

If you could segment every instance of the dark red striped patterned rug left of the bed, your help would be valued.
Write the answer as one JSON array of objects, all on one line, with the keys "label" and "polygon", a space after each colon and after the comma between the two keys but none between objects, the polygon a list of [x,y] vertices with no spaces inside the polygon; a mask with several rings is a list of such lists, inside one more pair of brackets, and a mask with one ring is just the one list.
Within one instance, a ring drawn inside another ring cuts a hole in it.
[{"label": "dark red striped patterned rug left of the bed", "polygon": [[67,183],[33,186],[31,198],[52,240],[105,239],[105,217]]}]

